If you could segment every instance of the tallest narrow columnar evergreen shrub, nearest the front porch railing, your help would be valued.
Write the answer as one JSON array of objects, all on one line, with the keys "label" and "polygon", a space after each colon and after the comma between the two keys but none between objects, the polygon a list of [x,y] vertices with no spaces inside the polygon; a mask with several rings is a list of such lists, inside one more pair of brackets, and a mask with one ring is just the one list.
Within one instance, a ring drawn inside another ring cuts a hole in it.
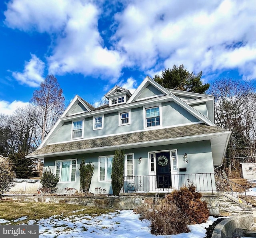
[{"label": "tallest narrow columnar evergreen shrub, nearest the front porch railing", "polygon": [[113,195],[119,195],[124,183],[124,150],[116,149],[112,160],[112,190]]}]

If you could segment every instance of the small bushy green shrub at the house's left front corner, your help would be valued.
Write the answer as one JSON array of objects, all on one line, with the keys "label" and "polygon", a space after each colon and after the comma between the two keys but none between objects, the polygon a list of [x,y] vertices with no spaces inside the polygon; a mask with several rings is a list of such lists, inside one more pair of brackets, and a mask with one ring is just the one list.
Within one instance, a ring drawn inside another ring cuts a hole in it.
[{"label": "small bushy green shrub at the house's left front corner", "polygon": [[42,184],[42,193],[44,194],[50,194],[55,193],[58,188],[56,188],[59,177],[57,177],[54,173],[52,173],[51,169],[45,169],[43,171],[42,177],[41,177],[41,184]]}]

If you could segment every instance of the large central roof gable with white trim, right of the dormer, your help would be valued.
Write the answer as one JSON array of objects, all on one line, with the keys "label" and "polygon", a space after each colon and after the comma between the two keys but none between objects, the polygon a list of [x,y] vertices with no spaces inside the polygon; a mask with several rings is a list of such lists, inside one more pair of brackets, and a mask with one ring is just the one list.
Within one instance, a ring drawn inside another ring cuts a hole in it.
[{"label": "large central roof gable with white trim, right of the dormer", "polygon": [[147,76],[132,94],[127,103],[171,94],[171,92]]}]

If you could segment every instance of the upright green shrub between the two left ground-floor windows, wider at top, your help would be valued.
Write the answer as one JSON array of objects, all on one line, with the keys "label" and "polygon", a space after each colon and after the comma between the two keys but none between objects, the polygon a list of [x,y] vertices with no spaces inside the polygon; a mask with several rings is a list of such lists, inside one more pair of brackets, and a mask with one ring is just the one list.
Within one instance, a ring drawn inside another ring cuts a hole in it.
[{"label": "upright green shrub between the two left ground-floor windows, wider at top", "polygon": [[84,160],[80,163],[80,190],[88,195],[94,174],[94,165],[90,162],[85,164]]}]

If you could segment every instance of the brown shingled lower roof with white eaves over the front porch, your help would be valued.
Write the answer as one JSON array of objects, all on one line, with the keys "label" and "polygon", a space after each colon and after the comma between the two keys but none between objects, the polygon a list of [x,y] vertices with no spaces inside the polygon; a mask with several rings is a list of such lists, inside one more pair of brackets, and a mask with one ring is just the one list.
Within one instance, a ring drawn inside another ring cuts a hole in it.
[{"label": "brown shingled lower roof with white eaves over the front porch", "polygon": [[37,149],[26,157],[43,158],[79,153],[92,153],[96,151],[109,151],[118,148],[141,148],[211,140],[214,165],[218,165],[223,159],[230,133],[231,132],[218,126],[192,124],[88,140],[50,144],[41,149]]}]

